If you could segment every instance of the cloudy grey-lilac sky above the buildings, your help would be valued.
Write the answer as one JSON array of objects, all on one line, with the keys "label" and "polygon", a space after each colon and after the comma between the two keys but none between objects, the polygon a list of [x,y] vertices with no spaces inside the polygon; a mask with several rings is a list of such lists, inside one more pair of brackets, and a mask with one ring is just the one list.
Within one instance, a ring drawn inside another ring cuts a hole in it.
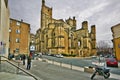
[{"label": "cloudy grey-lilac sky above the buildings", "polygon": [[[31,25],[31,32],[40,28],[42,0],[8,0],[10,17]],[[77,29],[83,21],[96,25],[97,41],[111,43],[111,27],[120,23],[120,0],[45,0],[48,7],[53,8],[53,18],[68,19],[76,17]]]}]

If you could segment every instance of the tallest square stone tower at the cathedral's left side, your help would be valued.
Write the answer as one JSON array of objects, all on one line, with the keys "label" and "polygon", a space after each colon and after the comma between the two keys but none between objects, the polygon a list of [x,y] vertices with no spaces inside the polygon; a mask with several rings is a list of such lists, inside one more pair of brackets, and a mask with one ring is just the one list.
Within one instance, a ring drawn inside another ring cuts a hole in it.
[{"label": "tallest square stone tower at the cathedral's left side", "polygon": [[52,23],[52,8],[45,5],[45,0],[42,0],[41,9],[41,50],[42,52],[47,51],[48,46],[48,25]]}]

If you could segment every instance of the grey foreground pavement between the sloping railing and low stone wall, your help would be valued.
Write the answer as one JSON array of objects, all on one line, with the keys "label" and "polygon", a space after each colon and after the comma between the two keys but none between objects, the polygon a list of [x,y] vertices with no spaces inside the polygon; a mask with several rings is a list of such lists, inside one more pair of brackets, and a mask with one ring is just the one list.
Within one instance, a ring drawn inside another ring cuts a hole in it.
[{"label": "grey foreground pavement between the sloping railing and low stone wall", "polygon": [[[26,68],[26,66],[23,66]],[[90,80],[91,73],[71,70],[69,68],[60,67],[47,62],[39,60],[32,61],[32,68],[30,71],[43,80]],[[105,80],[103,76],[95,76],[94,80]],[[109,78],[108,80],[118,80]]]}]

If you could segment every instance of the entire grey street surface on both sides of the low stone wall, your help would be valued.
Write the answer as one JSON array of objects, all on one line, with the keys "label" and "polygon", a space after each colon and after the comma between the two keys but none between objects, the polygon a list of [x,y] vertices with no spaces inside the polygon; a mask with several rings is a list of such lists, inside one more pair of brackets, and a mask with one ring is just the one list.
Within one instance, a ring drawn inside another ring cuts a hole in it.
[{"label": "entire grey street surface on both sides of the low stone wall", "polygon": [[[43,56],[41,60],[32,60],[32,67],[29,72],[36,75],[40,78],[40,80],[91,80],[90,76],[92,73],[87,73],[79,70],[71,69],[70,67],[63,67],[58,65],[53,65],[51,63],[48,63],[47,61],[44,61],[45,58],[49,58],[49,60],[56,60],[56,61],[65,61],[67,63],[72,63],[72,65],[75,65],[75,63],[79,66],[88,66],[91,61],[95,59],[79,59],[79,58],[56,58],[52,56]],[[51,61],[52,62],[52,61]],[[63,63],[63,62],[62,62]],[[89,63],[89,64],[88,64]],[[92,62],[91,62],[92,63]],[[54,62],[55,64],[55,62]],[[82,65],[83,64],[83,65]],[[22,64],[20,67],[23,67],[26,69],[26,65],[23,66]],[[119,68],[110,68],[113,73],[119,74]],[[103,76],[95,76],[94,80],[105,80]],[[111,74],[110,78],[107,80],[119,80],[119,76]]]}]

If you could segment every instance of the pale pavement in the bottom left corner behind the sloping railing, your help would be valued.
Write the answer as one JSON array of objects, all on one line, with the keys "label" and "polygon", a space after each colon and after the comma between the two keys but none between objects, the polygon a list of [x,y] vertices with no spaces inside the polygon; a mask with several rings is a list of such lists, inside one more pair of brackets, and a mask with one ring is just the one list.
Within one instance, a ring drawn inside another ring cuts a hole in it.
[{"label": "pale pavement in the bottom left corner behind the sloping railing", "polygon": [[[32,74],[31,74],[32,75]],[[35,80],[17,67],[6,61],[0,64],[0,80]]]}]

